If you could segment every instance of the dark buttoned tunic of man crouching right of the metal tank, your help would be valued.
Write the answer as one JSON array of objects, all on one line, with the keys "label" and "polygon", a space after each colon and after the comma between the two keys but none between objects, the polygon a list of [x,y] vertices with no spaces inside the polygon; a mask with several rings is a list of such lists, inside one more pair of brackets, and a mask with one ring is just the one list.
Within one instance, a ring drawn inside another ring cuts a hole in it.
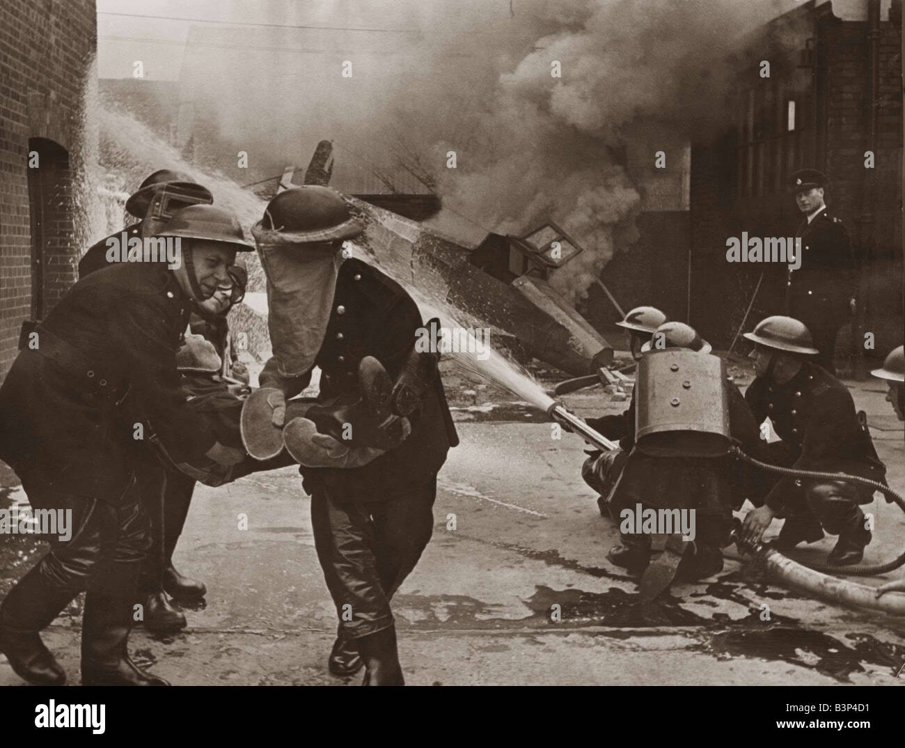
[{"label": "dark buttoned tunic of man crouching right of the metal tank", "polygon": [[[757,377],[745,399],[758,423],[769,417],[791,466],[882,480],[885,466],[855,412],[852,395],[825,369],[804,361],[795,377],[782,385]],[[769,451],[775,449],[767,449],[765,455]],[[766,503],[779,511],[798,493],[795,479],[786,477],[767,494]]]}]

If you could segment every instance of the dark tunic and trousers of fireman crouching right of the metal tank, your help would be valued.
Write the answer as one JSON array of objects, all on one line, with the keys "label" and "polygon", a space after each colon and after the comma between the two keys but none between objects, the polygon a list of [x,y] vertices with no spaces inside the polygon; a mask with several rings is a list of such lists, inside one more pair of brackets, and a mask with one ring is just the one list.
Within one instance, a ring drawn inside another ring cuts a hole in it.
[{"label": "dark tunic and trousers of fireman crouching right of the metal tank", "polygon": [[[763,445],[755,453],[764,462],[884,481],[886,468],[874,449],[863,413],[855,412],[848,388],[822,367],[805,361],[795,377],[782,385],[758,377],[745,392],[745,399],[758,422],[770,418],[781,440]],[[763,477],[756,503],[767,503],[780,516],[805,513],[810,507],[824,529],[836,534],[845,529],[840,517],[847,517],[846,522],[853,526],[857,524],[853,503],[870,503],[873,491],[829,482],[837,484],[842,494],[838,501],[827,504],[827,491],[821,488],[827,483],[791,476],[778,481],[775,476]],[[766,497],[764,487],[769,487]]]}]

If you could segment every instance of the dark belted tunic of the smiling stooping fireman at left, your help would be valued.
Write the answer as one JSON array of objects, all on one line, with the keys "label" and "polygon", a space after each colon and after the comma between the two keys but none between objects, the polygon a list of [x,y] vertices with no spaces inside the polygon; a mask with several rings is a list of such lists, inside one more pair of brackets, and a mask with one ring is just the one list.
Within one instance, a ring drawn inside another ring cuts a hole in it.
[{"label": "dark belted tunic of the smiling stooping fireman at left", "polygon": [[188,313],[166,265],[114,264],[82,278],[42,326],[78,350],[90,362],[85,376],[116,397],[98,398],[77,372],[40,350],[20,350],[0,388],[0,458],[20,476],[115,501],[145,444],[134,438],[138,421],[149,422],[183,461],[203,456],[214,436],[187,407],[176,371]]}]

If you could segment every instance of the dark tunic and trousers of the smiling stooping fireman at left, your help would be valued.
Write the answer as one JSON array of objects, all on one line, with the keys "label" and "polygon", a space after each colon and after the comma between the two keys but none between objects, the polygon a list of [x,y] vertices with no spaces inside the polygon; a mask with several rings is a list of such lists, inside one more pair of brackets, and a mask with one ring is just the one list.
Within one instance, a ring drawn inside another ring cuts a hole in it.
[{"label": "dark tunic and trousers of the smiling stooping fireman at left", "polygon": [[153,424],[186,459],[214,445],[179,389],[186,312],[166,266],[119,264],[62,297],[35,330],[37,350],[31,336],[21,341],[0,388],[0,458],[33,506],[73,510],[71,540],[52,542],[39,563],[57,588],[85,589],[104,553],[135,561],[147,548],[133,477],[144,447],[136,423]]}]

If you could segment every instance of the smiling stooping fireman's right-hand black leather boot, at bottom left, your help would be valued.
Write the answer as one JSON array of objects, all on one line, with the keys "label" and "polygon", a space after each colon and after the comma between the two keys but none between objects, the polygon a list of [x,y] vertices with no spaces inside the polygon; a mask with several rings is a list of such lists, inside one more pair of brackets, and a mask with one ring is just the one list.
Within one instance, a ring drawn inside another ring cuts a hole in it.
[{"label": "smiling stooping fireman's right-hand black leather boot, at bottom left", "polygon": [[[88,590],[81,619],[82,686],[169,686],[129,658],[127,642],[138,587],[136,562],[119,562],[107,590]],[[112,591],[115,590],[115,591]]]}]

